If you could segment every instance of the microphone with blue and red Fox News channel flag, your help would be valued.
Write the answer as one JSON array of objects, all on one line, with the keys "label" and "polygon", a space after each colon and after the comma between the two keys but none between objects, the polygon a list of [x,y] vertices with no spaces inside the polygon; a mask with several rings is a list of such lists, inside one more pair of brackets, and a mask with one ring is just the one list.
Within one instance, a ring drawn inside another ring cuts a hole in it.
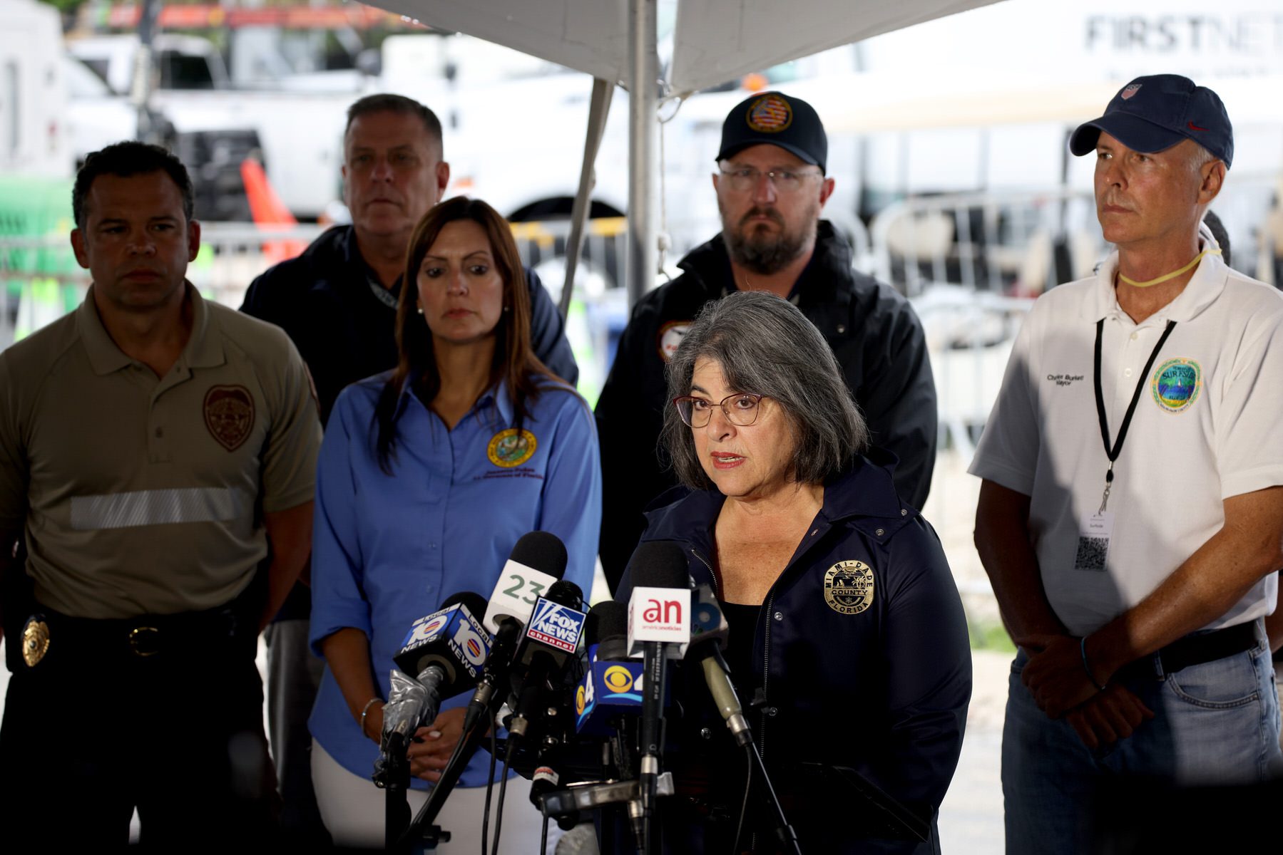
[{"label": "microphone with blue and red Fox News channel flag", "polygon": [[539,597],[530,615],[530,626],[521,640],[514,659],[512,695],[516,704],[508,723],[509,749],[530,729],[531,719],[539,714],[543,697],[550,688],[549,681],[579,649],[580,636],[588,615],[580,611],[584,592],[574,582],[562,579]]}]

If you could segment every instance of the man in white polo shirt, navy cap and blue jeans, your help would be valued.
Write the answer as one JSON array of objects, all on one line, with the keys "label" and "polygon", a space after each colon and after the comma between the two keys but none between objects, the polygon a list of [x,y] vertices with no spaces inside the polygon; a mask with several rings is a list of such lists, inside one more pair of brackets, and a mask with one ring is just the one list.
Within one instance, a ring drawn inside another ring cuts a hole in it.
[{"label": "man in white polo shirt, navy cap and blue jeans", "polygon": [[1280,763],[1262,618],[1283,567],[1283,295],[1200,235],[1229,117],[1184,77],[1141,77],[1070,150],[1096,154],[1117,251],[1034,305],[971,465],[1020,646],[1017,852],[1100,851],[1093,808],[1130,776],[1253,783]]}]

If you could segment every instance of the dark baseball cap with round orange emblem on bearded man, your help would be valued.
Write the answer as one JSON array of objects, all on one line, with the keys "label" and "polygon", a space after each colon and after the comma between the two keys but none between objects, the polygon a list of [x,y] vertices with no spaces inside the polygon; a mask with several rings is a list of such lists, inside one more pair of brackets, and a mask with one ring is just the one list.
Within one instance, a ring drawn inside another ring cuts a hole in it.
[{"label": "dark baseball cap with round orange emblem on bearded man", "polygon": [[717,160],[762,144],[777,145],[825,172],[829,137],[815,108],[802,99],[783,92],[758,92],[736,104],[722,123]]}]

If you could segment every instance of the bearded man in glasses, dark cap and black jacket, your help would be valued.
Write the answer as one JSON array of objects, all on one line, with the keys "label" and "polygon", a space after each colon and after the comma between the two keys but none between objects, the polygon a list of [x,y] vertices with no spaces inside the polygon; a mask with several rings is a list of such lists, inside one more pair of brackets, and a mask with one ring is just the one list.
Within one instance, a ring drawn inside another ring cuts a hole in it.
[{"label": "bearded man in glasses, dark cap and black jacket", "polygon": [[643,509],[675,483],[657,441],[663,365],[692,319],[731,291],[771,291],[824,333],[875,445],[899,458],[896,487],[921,508],[935,463],[935,385],[908,301],[851,264],[820,212],[833,195],[828,137],[806,101],[763,92],[722,126],[713,174],[722,232],[686,255],[684,273],[638,301],[597,404],[604,495],[602,565],[613,590],[645,526]]}]

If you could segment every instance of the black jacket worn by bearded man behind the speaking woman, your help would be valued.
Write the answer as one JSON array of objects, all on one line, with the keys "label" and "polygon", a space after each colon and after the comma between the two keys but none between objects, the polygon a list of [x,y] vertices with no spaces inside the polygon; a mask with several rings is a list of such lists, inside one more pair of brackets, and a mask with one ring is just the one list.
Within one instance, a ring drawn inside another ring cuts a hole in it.
[{"label": "black jacket worn by bearded man behind the speaking woman", "polygon": [[[611,590],[642,535],[643,510],[676,483],[658,447],[670,406],[661,345],[672,345],[709,300],[735,291],[722,236],[692,250],[672,282],[648,291],[629,326],[602,395],[602,569]],[[908,300],[857,273],[851,246],[828,220],[816,227],[815,253],[790,301],[815,324],[838,358],[874,445],[899,458],[896,488],[915,508],[926,504],[935,465],[935,381],[926,335]]]}]

